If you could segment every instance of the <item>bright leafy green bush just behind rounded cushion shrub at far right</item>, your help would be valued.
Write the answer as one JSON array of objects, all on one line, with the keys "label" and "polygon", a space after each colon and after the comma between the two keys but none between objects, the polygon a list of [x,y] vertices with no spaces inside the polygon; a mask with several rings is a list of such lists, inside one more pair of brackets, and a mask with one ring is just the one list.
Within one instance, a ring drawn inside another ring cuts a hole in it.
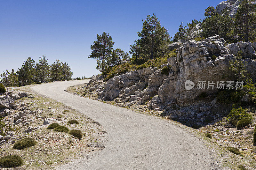
[{"label": "bright leafy green bush just behind rounded cushion shrub at far right", "polygon": [[[234,105],[233,105],[234,106]],[[248,113],[247,109],[243,109],[242,107],[239,108],[232,108],[228,114],[227,120],[241,120],[241,119],[249,119],[252,120],[252,115]]]}]

